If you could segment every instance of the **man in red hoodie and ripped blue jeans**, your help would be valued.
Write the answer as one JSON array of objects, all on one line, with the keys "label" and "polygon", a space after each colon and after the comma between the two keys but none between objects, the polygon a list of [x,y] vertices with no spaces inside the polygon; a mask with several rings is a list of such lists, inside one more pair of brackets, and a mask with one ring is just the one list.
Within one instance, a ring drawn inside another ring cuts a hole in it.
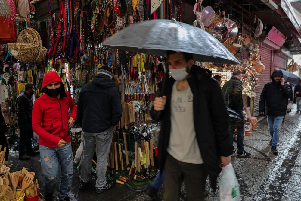
[{"label": "man in red hoodie and ripped blue jeans", "polygon": [[[53,200],[57,171],[61,166],[59,199],[68,201],[73,176],[73,155],[68,125],[76,119],[76,104],[65,91],[61,78],[55,72],[45,75],[42,92],[33,104],[33,131],[39,135],[42,175],[45,177],[45,199]],[[69,118],[68,110],[71,110]],[[69,120],[68,120],[69,119]]]}]

